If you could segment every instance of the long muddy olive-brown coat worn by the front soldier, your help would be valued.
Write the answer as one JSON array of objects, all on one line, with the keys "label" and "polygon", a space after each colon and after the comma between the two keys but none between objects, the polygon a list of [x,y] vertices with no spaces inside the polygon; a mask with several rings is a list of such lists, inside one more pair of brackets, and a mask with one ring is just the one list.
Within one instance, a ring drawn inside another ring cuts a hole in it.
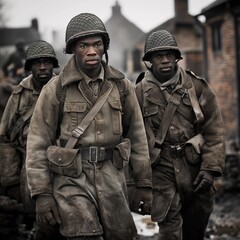
[{"label": "long muddy olive-brown coat worn by the front soldier", "polygon": [[[109,240],[132,239],[136,229],[126,201],[124,166],[130,162],[136,186],[152,186],[147,139],[133,84],[116,69],[102,64],[105,73],[99,95],[110,87],[112,90],[78,140],[76,148],[80,148],[81,156],[75,165],[78,171],[61,168],[64,160],[62,165],[57,159],[52,160],[56,152],[50,151],[50,146],[55,144],[56,138],[65,146],[71,132],[94,104],[92,91],[77,69],[74,57],[59,76],[44,86],[28,135],[28,183],[32,197],[53,194],[59,206],[60,231],[64,236],[89,232],[101,235],[104,231]],[[117,81],[124,85],[124,101],[121,101]],[[67,89],[63,104],[59,102],[59,84]],[[81,153],[81,147],[113,145],[119,151],[114,150],[111,160],[91,163],[86,161],[88,156]]]}]

